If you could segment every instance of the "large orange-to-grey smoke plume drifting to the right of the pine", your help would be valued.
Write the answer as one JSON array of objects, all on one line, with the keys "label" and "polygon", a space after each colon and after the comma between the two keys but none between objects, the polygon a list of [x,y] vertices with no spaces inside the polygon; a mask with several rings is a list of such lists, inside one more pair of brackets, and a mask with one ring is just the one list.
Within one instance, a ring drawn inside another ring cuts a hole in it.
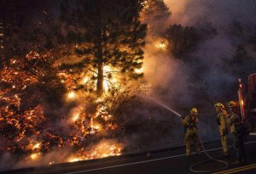
[{"label": "large orange-to-grey smoke plume drifting to the right of the pine", "polygon": [[[215,121],[213,104],[236,100],[237,79],[247,81],[247,75],[256,70],[247,59],[253,56],[250,54],[253,51],[249,41],[255,36],[253,28],[256,19],[253,16],[256,13],[256,2],[166,0],[165,3],[172,12],[165,27],[173,24],[194,26],[199,30],[201,27],[212,27],[216,33],[204,36],[183,60],[175,59],[170,53],[149,44],[145,49],[144,67],[145,77],[152,87],[150,95],[184,115],[192,107],[199,108],[199,127],[204,129],[204,134],[199,130],[201,137],[217,139],[217,124],[209,124]],[[241,47],[248,53],[247,57],[241,58],[247,59],[246,63],[231,65],[230,62]],[[243,69],[240,71],[242,73],[236,73],[238,69]]]}]

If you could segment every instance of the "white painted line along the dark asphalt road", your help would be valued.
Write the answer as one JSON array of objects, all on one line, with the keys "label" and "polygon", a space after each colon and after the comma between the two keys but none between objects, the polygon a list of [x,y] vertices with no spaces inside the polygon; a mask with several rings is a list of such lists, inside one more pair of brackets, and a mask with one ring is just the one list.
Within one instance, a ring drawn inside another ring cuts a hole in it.
[{"label": "white painted line along the dark asphalt road", "polygon": [[[256,141],[247,142],[245,144],[250,144],[250,143],[256,143]],[[222,149],[222,148],[208,149],[206,151],[211,152],[211,151],[218,150],[218,149]],[[204,151],[202,151],[202,152],[204,152]],[[195,152],[192,153],[192,154],[195,154]],[[100,171],[100,170],[104,170],[104,169],[112,169],[112,168],[121,167],[121,166],[132,166],[132,165],[137,165],[137,164],[153,162],[153,161],[157,161],[157,160],[172,159],[172,158],[177,158],[177,157],[181,157],[181,156],[185,156],[185,154],[177,154],[177,155],[174,155],[174,156],[167,156],[165,158],[158,158],[158,159],[154,159],[154,160],[143,160],[143,161],[139,161],[139,162],[126,163],[126,164],[123,164],[123,165],[106,166],[106,167],[101,167],[101,168],[96,168],[96,169],[89,169],[89,170],[84,170],[84,171],[73,171],[73,172],[68,172],[68,173],[63,173],[63,174],[77,174],[77,173],[84,173],[84,172],[90,172],[90,171]]]}]

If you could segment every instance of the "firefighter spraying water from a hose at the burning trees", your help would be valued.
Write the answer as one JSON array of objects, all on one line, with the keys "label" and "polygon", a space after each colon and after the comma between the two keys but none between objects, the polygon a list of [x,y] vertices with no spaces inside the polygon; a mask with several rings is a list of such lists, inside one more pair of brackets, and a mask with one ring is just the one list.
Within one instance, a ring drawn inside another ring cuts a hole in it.
[{"label": "firefighter spraying water from a hose at the burning trees", "polygon": [[197,135],[198,111],[196,108],[190,110],[190,114],[183,118],[182,124],[185,130],[184,143],[186,146],[186,155],[191,154],[190,143],[193,140],[197,154],[201,153],[200,140]]}]

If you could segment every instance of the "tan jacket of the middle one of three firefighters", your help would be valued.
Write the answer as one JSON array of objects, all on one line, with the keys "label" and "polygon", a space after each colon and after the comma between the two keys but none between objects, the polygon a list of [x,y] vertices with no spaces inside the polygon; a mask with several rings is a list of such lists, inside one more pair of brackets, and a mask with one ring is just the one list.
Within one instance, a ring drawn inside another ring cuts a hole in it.
[{"label": "tan jacket of the middle one of three firefighters", "polygon": [[227,121],[227,117],[228,113],[224,109],[220,110],[217,115],[218,128],[221,136],[227,135],[229,132],[229,124]]}]

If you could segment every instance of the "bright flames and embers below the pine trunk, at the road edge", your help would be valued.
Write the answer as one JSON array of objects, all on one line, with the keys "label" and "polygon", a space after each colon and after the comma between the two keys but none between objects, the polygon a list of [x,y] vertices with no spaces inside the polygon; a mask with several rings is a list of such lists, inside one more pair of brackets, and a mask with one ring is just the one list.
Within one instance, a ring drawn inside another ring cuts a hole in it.
[{"label": "bright flames and embers below the pine trunk, at the road edge", "polygon": [[[114,130],[117,125],[113,123],[113,115],[109,115],[106,107],[103,105],[97,109],[95,115],[85,114],[81,108],[74,109],[71,124],[77,128],[77,133],[70,138],[72,146],[83,144],[84,139],[92,135],[101,135],[108,130]],[[80,134],[80,136],[79,136]],[[102,140],[91,148],[81,148],[73,152],[67,158],[67,162],[76,162],[79,160],[100,159],[108,156],[120,155],[123,145],[116,140]]]}]

